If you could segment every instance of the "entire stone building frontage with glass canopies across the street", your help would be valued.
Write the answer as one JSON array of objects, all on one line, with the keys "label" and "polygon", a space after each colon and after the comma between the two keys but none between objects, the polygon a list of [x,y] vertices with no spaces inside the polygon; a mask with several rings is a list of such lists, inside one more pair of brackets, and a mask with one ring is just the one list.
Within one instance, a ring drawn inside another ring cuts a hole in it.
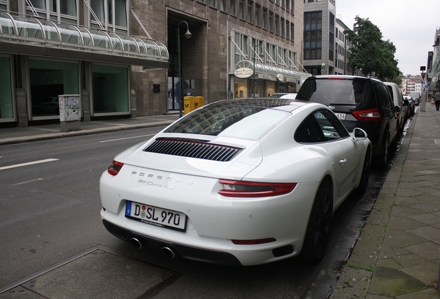
[{"label": "entire stone building frontage with glass canopies across the street", "polygon": [[183,96],[206,103],[297,91],[309,76],[303,8],[300,0],[0,0],[0,126],[56,122],[65,94],[80,96],[90,121],[178,111]]}]

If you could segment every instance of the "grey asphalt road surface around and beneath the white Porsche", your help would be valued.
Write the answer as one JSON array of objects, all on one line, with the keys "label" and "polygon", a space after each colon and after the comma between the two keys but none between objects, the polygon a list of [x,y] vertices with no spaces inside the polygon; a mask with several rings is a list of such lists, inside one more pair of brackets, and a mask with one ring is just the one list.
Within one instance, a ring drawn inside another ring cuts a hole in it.
[{"label": "grey asphalt road surface around and beneath the white Porsche", "polygon": [[[351,196],[334,215],[327,257],[318,265],[291,259],[226,267],[167,260],[109,234],[100,219],[98,181],[113,156],[159,127],[3,145],[0,147],[0,289],[95,246],[174,276],[142,298],[327,298],[386,172],[374,171],[363,197]],[[111,268],[111,269],[110,269]],[[123,269],[121,284],[130,284]],[[87,279],[99,288],[99,275]],[[164,280],[165,281],[165,280]],[[0,295],[0,298],[1,297]],[[8,298],[8,297],[4,297]],[[14,297],[19,298],[19,297]],[[71,296],[70,298],[75,298]],[[109,297],[107,297],[109,298]]]}]

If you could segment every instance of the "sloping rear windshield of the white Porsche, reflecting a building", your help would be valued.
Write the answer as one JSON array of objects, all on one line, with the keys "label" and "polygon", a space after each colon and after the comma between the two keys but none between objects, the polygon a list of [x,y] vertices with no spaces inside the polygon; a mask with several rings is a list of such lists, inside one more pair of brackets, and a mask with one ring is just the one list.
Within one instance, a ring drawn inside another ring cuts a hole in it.
[{"label": "sloping rear windshield of the white Porsche, reflecting a building", "polygon": [[181,118],[165,132],[257,140],[289,115],[266,107],[210,105]]}]

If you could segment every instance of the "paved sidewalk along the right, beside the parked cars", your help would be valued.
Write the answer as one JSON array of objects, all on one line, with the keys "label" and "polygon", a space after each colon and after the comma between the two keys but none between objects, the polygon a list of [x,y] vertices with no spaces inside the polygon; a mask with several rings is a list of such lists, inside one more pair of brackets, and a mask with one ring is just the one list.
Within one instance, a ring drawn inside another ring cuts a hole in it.
[{"label": "paved sidewalk along the right, beside the parked cars", "polygon": [[332,299],[440,298],[440,111],[417,111]]}]

